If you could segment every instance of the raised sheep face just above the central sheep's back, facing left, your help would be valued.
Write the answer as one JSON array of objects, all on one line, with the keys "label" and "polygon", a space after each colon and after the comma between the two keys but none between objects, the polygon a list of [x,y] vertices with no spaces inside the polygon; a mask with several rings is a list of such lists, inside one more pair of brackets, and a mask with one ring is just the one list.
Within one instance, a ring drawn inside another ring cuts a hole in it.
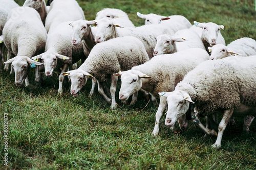
[{"label": "raised sheep face just above the central sheep's back, facing left", "polygon": [[96,22],[98,31],[95,35],[95,41],[97,43],[114,38],[116,25],[111,18],[102,18]]}]

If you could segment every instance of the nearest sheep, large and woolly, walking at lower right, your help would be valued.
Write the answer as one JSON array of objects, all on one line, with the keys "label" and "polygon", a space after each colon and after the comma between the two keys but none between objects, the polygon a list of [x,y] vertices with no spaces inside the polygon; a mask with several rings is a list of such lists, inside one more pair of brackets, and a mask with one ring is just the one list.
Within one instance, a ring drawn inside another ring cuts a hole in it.
[{"label": "nearest sheep, large and woolly, walking at lower right", "polygon": [[[256,56],[227,57],[199,64],[188,72],[174,91],[163,93],[168,104],[165,125],[172,126],[189,108],[195,107],[194,122],[207,135],[216,135],[212,147],[220,148],[231,116],[256,115],[255,65]],[[223,111],[219,126],[211,117],[215,111]],[[213,129],[205,128],[199,116],[207,116]]]}]

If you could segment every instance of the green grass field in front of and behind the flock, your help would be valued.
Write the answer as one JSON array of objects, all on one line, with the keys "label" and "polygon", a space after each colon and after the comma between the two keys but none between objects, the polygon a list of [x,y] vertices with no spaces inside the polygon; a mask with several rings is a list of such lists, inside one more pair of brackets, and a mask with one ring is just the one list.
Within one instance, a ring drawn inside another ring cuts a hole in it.
[{"label": "green grass field in front of and behind the flock", "polygon": [[[15,0],[23,5],[25,0]],[[78,0],[87,20],[103,8],[125,11],[135,26],[143,14],[183,15],[191,23],[216,22],[226,44],[241,37],[256,39],[253,1],[195,0]],[[77,98],[68,85],[57,95],[58,77],[44,77],[36,84],[16,87],[14,75],[0,73],[0,169],[255,169],[256,126],[243,133],[243,118],[224,132],[221,149],[210,147],[216,137],[203,140],[204,133],[189,124],[186,132],[175,134],[160,121],[154,137],[157,107],[139,98],[134,106],[110,108],[98,94],[88,98],[90,83]],[[119,85],[120,86],[120,85]],[[118,92],[118,90],[117,90]],[[6,114],[5,114],[6,113]],[[8,117],[8,152],[5,152],[4,121]],[[178,124],[177,124],[178,127]],[[254,144],[253,144],[254,143]],[[8,153],[8,166],[4,156]]]}]

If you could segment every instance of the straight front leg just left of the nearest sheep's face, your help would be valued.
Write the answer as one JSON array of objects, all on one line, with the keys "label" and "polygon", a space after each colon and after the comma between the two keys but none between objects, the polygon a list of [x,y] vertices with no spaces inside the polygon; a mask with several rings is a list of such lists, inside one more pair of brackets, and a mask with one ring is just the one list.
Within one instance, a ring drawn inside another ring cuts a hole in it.
[{"label": "straight front leg just left of the nearest sheep's face", "polygon": [[159,133],[159,121],[160,121],[160,118],[162,117],[162,114],[167,106],[166,99],[167,98],[160,96],[160,103],[159,103],[159,107],[156,112],[155,128],[154,128],[153,132],[151,133],[154,136],[158,135],[158,133]]}]

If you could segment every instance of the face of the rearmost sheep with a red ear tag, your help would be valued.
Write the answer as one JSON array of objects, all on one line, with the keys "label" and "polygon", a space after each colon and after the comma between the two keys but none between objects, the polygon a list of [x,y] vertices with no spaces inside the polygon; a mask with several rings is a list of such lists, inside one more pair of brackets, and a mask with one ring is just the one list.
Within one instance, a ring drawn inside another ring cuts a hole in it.
[{"label": "face of the rearmost sheep with a red ear tag", "polygon": [[162,20],[167,20],[169,17],[156,15],[156,14],[141,14],[137,12],[138,17],[145,19],[145,25],[160,24]]}]

